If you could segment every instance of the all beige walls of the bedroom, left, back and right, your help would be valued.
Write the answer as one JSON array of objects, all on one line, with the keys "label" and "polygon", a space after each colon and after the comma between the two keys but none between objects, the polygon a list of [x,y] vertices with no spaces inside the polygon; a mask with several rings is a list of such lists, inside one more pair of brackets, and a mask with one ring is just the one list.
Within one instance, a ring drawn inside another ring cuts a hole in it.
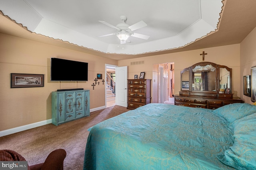
[{"label": "all beige walls of the bedroom, left, back and right", "polygon": [[[153,71],[153,65],[174,62],[174,94],[177,94],[180,90],[180,71],[194,63],[201,62],[202,56],[200,53],[202,51],[208,53],[205,56],[205,61],[232,68],[234,96],[241,97],[246,103],[251,103],[250,98],[243,95],[242,76],[250,75],[250,68],[256,65],[255,28],[241,44],[121,61],[8,36],[6,34],[0,34],[0,44],[0,131],[51,119],[51,92],[57,89],[89,89],[90,108],[104,106],[104,86],[96,86],[92,90],[91,85],[97,73],[104,75],[105,63],[118,66],[128,65],[129,79],[133,79],[134,75],[140,75],[140,72],[145,71],[146,79],[152,79],[152,82],[154,82],[154,79],[157,79],[157,72]],[[50,57],[88,62],[88,82],[51,82],[49,76]],[[132,61],[144,61],[144,64],[130,65]],[[11,89],[10,73],[44,74],[44,87]]]}]

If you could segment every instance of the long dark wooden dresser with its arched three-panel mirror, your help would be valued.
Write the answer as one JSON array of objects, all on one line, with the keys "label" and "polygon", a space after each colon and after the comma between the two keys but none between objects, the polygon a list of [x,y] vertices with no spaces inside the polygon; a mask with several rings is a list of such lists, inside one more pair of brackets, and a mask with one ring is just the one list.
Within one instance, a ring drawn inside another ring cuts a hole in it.
[{"label": "long dark wooden dresser with its arched three-panel mirror", "polygon": [[180,72],[179,95],[174,105],[217,109],[231,103],[244,103],[232,93],[232,69],[211,62],[196,63]]}]

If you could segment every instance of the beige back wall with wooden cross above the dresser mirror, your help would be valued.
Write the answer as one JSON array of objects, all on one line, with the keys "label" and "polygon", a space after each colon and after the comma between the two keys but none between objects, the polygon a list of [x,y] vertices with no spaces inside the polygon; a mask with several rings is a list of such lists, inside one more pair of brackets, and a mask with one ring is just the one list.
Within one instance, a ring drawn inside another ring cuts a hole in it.
[{"label": "beige back wall with wooden cross above the dresser mirror", "polygon": [[[146,79],[152,79],[154,82],[155,74],[153,73],[153,65],[158,63],[174,62],[174,95],[180,91],[180,71],[186,67],[202,62],[202,51],[205,51],[204,61],[226,65],[232,68],[233,93],[234,97],[240,97],[240,44],[225,45],[220,47],[212,47],[205,49],[197,49],[192,51],[183,51],[178,53],[170,53],[164,55],[155,55],[150,57],[141,57],[138,59],[127,59],[118,61],[118,66],[128,64],[128,78],[132,79],[134,75],[140,75],[140,72],[146,72]],[[130,65],[133,61],[144,61],[141,65]],[[152,78],[154,75],[154,79]],[[152,94],[154,91],[152,90]]]}]

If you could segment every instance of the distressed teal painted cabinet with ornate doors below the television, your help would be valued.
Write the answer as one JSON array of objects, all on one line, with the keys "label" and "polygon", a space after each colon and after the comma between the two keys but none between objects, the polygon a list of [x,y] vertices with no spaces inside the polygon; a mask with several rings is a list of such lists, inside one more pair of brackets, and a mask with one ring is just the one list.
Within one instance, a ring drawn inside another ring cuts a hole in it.
[{"label": "distressed teal painted cabinet with ornate doors below the television", "polygon": [[89,115],[89,90],[52,92],[52,124],[58,126]]}]

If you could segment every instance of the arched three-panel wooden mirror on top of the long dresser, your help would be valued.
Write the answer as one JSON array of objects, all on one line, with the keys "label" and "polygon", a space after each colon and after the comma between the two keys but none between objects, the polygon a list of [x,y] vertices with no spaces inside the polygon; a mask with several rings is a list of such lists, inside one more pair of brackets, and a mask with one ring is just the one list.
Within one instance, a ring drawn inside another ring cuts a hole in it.
[{"label": "arched three-panel wooden mirror on top of the long dresser", "polygon": [[183,69],[180,76],[181,91],[232,93],[232,72],[224,65],[200,62]]}]

